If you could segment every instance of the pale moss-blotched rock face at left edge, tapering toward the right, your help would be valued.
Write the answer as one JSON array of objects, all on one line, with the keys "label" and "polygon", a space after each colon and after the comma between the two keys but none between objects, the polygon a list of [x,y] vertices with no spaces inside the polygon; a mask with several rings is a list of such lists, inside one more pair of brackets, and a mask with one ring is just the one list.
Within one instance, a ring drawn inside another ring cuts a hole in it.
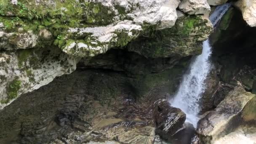
[{"label": "pale moss-blotched rock face at left edge, tapering toward the right", "polygon": [[[50,83],[55,77],[70,74],[76,69],[77,59],[64,53],[49,53],[45,59],[33,52],[27,53],[26,58],[21,58],[20,56],[24,54],[17,52],[0,53],[0,109],[15,100],[11,96],[18,97],[38,89]],[[56,60],[55,56],[58,55],[59,59]],[[17,91],[8,89],[13,83],[19,83],[16,85],[19,87]]]}]

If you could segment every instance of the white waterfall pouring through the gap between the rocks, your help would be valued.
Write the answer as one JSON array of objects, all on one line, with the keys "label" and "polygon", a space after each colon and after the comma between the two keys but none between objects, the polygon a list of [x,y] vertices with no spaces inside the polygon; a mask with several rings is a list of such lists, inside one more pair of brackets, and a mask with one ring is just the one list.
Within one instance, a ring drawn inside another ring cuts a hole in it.
[{"label": "white waterfall pouring through the gap between the rocks", "polygon": [[[227,3],[216,7],[216,10],[210,16],[213,27],[217,26],[230,6]],[[169,101],[172,107],[178,107],[186,113],[186,122],[192,123],[195,128],[199,120],[197,115],[200,112],[200,100],[205,90],[205,79],[211,70],[211,62],[209,61],[211,53],[209,40],[205,40],[202,54],[192,61],[189,72],[184,75],[174,98]]]}]

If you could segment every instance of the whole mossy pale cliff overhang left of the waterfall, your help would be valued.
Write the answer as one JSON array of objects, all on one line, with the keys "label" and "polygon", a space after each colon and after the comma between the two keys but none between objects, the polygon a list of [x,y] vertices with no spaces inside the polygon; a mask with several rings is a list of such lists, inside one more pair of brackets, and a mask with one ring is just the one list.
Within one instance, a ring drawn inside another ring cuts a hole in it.
[{"label": "whole mossy pale cliff overhang left of the waterfall", "polygon": [[204,0],[2,0],[0,109],[111,48],[176,60],[200,54],[209,10]]}]

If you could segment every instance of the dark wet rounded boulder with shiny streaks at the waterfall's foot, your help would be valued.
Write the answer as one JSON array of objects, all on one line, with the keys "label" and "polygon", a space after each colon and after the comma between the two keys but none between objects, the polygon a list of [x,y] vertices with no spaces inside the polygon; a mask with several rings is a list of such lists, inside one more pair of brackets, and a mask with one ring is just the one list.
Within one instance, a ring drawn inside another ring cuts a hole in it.
[{"label": "dark wet rounded boulder with shiny streaks at the waterfall's foot", "polygon": [[160,99],[154,103],[153,117],[156,133],[163,139],[169,139],[177,131],[183,129],[186,115],[179,108],[171,107],[167,99]]}]

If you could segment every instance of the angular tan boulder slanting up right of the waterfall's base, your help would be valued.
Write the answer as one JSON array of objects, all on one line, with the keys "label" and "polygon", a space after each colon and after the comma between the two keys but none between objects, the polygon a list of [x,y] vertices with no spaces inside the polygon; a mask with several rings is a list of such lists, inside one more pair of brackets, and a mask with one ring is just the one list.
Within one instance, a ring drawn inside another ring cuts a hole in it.
[{"label": "angular tan boulder slanting up right of the waterfall's base", "polygon": [[214,111],[198,122],[197,133],[202,138],[200,140],[211,143],[239,126],[239,115],[253,97],[254,94],[246,92],[242,87],[230,91]]}]

